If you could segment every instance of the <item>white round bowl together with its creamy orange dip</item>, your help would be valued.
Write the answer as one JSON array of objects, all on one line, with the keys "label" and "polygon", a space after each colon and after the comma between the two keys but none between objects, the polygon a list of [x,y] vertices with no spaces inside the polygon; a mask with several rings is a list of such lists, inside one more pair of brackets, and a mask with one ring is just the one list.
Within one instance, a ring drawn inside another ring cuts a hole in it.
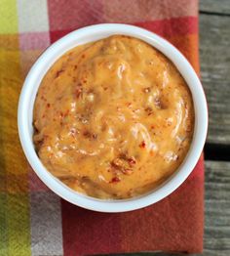
[{"label": "white round bowl together with its creamy orange dip", "polygon": [[167,41],[125,24],[74,31],[31,68],[19,137],[41,180],[96,211],[173,192],[204,147],[208,113],[193,68]]}]

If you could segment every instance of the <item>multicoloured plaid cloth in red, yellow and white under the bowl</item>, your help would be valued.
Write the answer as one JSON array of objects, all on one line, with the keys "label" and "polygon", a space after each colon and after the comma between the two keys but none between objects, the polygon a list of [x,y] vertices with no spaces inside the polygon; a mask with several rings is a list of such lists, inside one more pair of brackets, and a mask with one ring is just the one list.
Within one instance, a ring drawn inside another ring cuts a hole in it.
[{"label": "multicoloured plaid cloth in red, yellow and white under the bowl", "polygon": [[132,23],[165,37],[199,72],[196,0],[0,1],[0,255],[201,252],[204,161],[164,200],[141,210],[103,214],[58,197],[28,166],[19,145],[23,79],[60,36],[99,22]]}]

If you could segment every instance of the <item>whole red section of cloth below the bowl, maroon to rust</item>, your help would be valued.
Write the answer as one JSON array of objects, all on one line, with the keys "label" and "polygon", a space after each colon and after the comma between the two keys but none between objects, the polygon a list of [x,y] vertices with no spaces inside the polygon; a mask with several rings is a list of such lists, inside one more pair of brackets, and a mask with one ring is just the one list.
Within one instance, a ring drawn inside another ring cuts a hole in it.
[{"label": "whole red section of cloth below the bowl, maroon to rust", "polygon": [[201,252],[203,164],[201,158],[190,177],[170,196],[133,212],[96,213],[61,200],[64,255]]}]

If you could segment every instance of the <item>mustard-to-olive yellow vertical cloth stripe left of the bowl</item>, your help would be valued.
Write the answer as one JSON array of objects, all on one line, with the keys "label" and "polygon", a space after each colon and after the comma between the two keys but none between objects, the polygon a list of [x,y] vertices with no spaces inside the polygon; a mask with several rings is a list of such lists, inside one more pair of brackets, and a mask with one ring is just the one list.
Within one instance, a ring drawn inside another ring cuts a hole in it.
[{"label": "mustard-to-olive yellow vertical cloth stripe left of the bowl", "polygon": [[17,129],[21,84],[19,51],[0,49],[1,256],[31,254],[28,166]]}]

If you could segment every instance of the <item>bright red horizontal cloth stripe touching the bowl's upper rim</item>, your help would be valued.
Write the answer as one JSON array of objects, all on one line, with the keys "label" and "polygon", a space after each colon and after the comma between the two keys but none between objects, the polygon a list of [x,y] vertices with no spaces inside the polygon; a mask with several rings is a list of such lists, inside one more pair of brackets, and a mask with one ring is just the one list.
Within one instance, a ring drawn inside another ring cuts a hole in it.
[{"label": "bright red horizontal cloth stripe touching the bowl's upper rim", "polygon": [[[176,35],[198,33],[198,19],[196,17],[173,18],[163,21],[136,22],[134,25],[148,29],[166,38],[170,38]],[[80,27],[81,25],[76,27],[76,29]],[[51,42],[54,43],[60,37],[71,31],[73,31],[73,29],[62,29],[56,31],[51,30]]]}]

